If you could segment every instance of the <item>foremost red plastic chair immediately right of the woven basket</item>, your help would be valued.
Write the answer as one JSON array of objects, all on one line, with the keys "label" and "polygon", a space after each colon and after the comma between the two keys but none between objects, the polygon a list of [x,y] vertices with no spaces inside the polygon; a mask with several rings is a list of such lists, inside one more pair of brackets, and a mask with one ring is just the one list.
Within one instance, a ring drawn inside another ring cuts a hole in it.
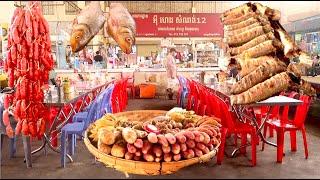
[{"label": "foremost red plastic chair immediately right of the woven basket", "polygon": [[[247,123],[241,123],[239,121],[236,121],[236,118],[232,112],[229,111],[229,106],[221,100],[219,97],[217,97],[217,102],[220,105],[221,112],[222,112],[222,118],[221,118],[221,144],[218,150],[217,155],[217,164],[221,164],[224,156],[224,149],[226,144],[226,137],[230,134],[241,134],[241,144],[246,144],[247,141],[247,134],[251,135],[251,148],[252,148],[252,166],[256,165],[256,141],[257,141],[257,135],[256,130],[253,126],[247,124]],[[245,153],[245,148],[240,149],[241,153]]]}]

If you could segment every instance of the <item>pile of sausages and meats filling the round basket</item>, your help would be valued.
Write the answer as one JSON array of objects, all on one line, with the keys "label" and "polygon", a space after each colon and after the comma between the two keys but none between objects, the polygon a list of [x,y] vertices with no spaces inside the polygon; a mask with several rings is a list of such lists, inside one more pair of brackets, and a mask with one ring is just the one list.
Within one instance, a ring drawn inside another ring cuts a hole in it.
[{"label": "pile of sausages and meats filling the round basket", "polygon": [[200,157],[217,149],[220,119],[197,117],[177,121],[158,116],[142,121],[119,121],[106,115],[89,127],[99,151],[127,160],[170,162]]}]

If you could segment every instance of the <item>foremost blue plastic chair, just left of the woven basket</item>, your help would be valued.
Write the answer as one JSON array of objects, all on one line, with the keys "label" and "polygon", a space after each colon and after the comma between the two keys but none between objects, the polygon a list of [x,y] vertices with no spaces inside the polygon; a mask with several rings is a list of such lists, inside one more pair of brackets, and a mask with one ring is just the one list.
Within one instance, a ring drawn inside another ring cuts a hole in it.
[{"label": "foremost blue plastic chair, just left of the woven basket", "polygon": [[70,154],[74,154],[74,140],[75,136],[83,136],[83,132],[88,128],[89,124],[94,121],[95,111],[98,104],[98,98],[93,101],[92,106],[88,112],[87,118],[82,122],[68,123],[61,129],[61,166],[66,166],[66,154],[67,154],[67,144],[68,140],[68,150]]}]

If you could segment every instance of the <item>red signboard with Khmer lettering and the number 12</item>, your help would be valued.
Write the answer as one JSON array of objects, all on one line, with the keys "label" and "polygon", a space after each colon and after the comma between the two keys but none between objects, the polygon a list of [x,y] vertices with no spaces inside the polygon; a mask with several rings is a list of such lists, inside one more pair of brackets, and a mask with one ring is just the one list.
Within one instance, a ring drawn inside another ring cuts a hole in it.
[{"label": "red signboard with Khmer lettering and the number 12", "polygon": [[223,37],[219,13],[133,13],[137,37]]}]

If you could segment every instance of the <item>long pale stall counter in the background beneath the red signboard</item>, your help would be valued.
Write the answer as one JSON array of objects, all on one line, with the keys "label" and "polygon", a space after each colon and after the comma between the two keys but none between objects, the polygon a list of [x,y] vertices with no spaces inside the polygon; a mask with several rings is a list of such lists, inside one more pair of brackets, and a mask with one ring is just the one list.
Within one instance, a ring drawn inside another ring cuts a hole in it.
[{"label": "long pale stall counter in the background beneath the red signboard", "polygon": [[[189,78],[199,79],[202,72],[204,82],[209,83],[210,78],[220,70],[219,67],[197,67],[197,68],[178,68],[177,75]],[[90,69],[86,71],[76,72],[74,70],[55,70],[59,77],[69,77],[70,79],[78,79],[81,74],[85,79],[92,81],[110,81],[121,79],[122,77],[133,77],[135,86],[144,83],[154,83],[157,86],[156,95],[164,96],[168,87],[174,91],[178,89],[178,80],[167,78],[165,68],[118,68],[118,69]]]}]

